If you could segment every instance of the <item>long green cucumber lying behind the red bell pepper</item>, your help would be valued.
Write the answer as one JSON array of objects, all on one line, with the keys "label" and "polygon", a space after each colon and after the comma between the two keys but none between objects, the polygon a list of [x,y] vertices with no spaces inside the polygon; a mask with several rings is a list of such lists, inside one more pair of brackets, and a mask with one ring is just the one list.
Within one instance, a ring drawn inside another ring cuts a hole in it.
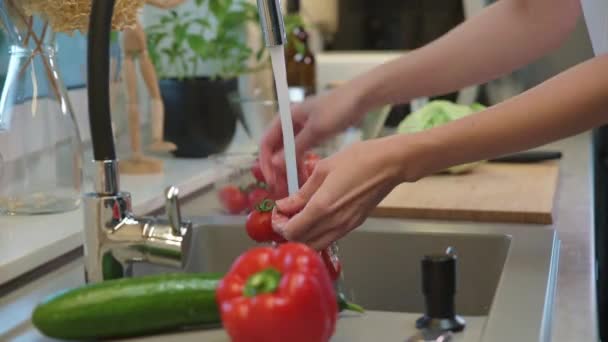
[{"label": "long green cucumber lying behind the red bell pepper", "polygon": [[[36,307],[32,323],[48,337],[131,337],[221,324],[215,290],[222,274],[124,278],[62,291]],[[340,311],[363,312],[337,293]]]}]

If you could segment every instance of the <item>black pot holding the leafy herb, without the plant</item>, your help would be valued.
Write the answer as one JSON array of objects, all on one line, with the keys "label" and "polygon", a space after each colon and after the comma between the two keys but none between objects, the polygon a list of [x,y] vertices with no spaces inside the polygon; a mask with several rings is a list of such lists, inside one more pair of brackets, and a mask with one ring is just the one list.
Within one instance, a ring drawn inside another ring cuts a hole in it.
[{"label": "black pot holding the leafy herb, without the plant", "polygon": [[160,81],[165,103],[165,138],[177,145],[180,158],[205,158],[228,148],[236,132],[237,113],[229,96],[238,80]]}]

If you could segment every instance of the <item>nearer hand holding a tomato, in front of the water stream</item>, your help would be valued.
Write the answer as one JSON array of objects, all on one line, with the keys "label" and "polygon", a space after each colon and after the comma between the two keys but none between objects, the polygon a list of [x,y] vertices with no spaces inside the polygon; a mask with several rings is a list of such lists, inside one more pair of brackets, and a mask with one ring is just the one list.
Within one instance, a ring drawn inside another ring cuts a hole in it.
[{"label": "nearer hand holding a tomato, in front of the water stream", "polygon": [[273,227],[318,250],[357,228],[403,177],[392,138],[354,144],[321,160],[300,191],[277,202]]}]

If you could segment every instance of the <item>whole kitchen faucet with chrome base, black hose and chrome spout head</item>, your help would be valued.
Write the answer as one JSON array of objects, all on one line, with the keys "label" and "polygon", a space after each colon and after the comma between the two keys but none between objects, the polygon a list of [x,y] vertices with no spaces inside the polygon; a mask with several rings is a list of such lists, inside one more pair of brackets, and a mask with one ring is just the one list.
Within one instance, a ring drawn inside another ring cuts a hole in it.
[{"label": "whole kitchen faucet with chrome base, black hose and chrome spout head", "polygon": [[[165,191],[167,219],[137,217],[121,192],[109,101],[110,30],[115,0],[93,0],[88,39],[88,98],[95,157],[94,192],[84,196],[87,282],[130,276],[135,262],[183,267],[192,224],[182,222],[179,191]],[[266,45],[286,41],[280,0],[258,0]]]}]

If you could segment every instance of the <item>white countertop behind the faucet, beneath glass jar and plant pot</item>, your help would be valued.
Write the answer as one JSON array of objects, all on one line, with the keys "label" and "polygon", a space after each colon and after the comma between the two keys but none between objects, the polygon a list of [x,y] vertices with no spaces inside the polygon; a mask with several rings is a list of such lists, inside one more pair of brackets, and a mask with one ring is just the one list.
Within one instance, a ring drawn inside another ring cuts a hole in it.
[{"label": "white countertop behind the faucet, beneath glass jar and plant pot", "polygon": [[[227,152],[253,150],[255,146],[239,129]],[[120,177],[121,189],[131,192],[136,214],[162,208],[162,194],[169,185],[178,186],[180,196],[187,196],[228,171],[209,159],[159,158],[164,160],[162,174]],[[85,191],[90,188],[87,182]],[[0,216],[0,285],[80,247],[82,231],[82,206],[54,215]]]}]

